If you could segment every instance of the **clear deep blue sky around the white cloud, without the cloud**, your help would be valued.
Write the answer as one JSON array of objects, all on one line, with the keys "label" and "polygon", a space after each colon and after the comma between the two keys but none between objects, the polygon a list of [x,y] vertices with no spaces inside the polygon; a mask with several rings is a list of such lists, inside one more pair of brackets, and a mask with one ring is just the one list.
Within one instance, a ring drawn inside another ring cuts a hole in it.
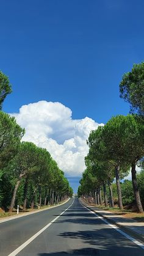
[{"label": "clear deep blue sky around the white cloud, without the cloud", "polygon": [[[106,123],[128,114],[119,98],[123,73],[143,60],[144,2],[0,1],[0,70],[13,93],[5,112],[41,100],[60,102],[73,119]],[[71,178],[74,188],[76,178]]]}]

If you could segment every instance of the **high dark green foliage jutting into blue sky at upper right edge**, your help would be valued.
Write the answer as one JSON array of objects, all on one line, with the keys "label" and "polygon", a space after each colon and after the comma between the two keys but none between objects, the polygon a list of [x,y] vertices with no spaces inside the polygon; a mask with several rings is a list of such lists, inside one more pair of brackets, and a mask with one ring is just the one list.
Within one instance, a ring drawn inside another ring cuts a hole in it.
[{"label": "high dark green foliage jutting into blue sky at upper right edge", "polygon": [[144,62],[134,64],[131,72],[123,75],[120,97],[131,104],[131,112],[144,116]]}]

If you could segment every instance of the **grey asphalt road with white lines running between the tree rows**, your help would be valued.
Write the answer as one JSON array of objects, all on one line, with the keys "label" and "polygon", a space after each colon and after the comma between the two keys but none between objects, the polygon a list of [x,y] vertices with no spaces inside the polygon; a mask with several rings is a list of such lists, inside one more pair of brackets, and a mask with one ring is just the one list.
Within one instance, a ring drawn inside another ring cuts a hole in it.
[{"label": "grey asphalt road with white lines running between the tree rows", "polygon": [[96,217],[79,199],[70,199],[59,207],[2,222],[0,255],[142,256],[144,247]]}]

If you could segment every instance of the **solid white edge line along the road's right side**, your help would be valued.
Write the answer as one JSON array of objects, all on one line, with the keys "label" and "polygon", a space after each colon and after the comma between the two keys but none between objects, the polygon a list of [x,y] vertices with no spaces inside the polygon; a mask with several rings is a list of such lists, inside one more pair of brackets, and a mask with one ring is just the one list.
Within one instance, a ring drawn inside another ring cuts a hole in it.
[{"label": "solid white edge line along the road's right side", "polygon": [[[81,203],[81,201],[79,200],[79,202]],[[81,205],[83,207],[85,207],[85,205],[83,205],[81,203]],[[85,207],[88,211],[90,211],[90,213],[93,213],[96,215],[96,217],[98,217],[99,219],[101,219],[102,221],[104,221],[107,225],[109,225],[110,227],[112,227],[113,229],[117,230],[117,232],[121,233],[121,235],[126,236],[126,238],[128,238],[129,240],[131,240],[133,243],[137,244],[137,246],[140,246],[142,249],[144,249],[144,244],[140,243],[139,241],[135,240],[135,238],[133,238],[132,236],[129,236],[128,234],[126,234],[125,232],[123,232],[119,227],[117,227],[114,224],[110,224],[106,219],[104,219],[102,216],[99,216],[98,214],[95,213],[95,211],[91,211],[90,209],[88,209],[87,207]]]}]

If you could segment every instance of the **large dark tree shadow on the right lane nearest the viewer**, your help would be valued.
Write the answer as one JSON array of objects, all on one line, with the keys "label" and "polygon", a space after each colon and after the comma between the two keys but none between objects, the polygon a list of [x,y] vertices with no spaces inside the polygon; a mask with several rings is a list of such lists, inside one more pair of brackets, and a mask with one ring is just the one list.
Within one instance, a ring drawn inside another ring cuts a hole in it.
[{"label": "large dark tree shadow on the right lane nearest the viewer", "polygon": [[[87,251],[87,249],[83,248],[83,254],[81,254],[81,250],[79,254],[77,252],[76,255],[114,255],[114,256],[135,256],[143,255],[143,249],[138,247],[136,244],[131,243],[131,241],[124,238],[124,236],[116,233],[112,228],[102,228],[93,230],[84,230],[77,232],[63,232],[60,233],[59,236],[63,236],[66,239],[74,239],[74,240],[82,240],[82,243],[88,244],[92,251]],[[68,240],[67,240],[68,243]],[[70,243],[70,242],[69,242]],[[96,248],[92,248],[96,247]],[[86,252],[87,253],[86,253]],[[69,253],[69,252],[68,252]],[[57,254],[59,255],[59,254]],[[73,252],[73,255],[75,253]]]}]

